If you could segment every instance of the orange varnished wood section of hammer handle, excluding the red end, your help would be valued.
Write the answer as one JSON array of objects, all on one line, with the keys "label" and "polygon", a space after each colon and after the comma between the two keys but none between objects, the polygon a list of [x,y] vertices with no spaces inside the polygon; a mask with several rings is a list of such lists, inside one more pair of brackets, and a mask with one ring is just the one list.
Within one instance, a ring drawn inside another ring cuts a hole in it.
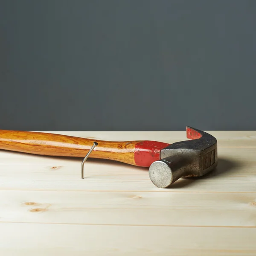
[{"label": "orange varnished wood section of hammer handle, excluding the red end", "polygon": [[0,149],[61,157],[85,157],[96,141],[92,158],[135,165],[134,149],[139,141],[112,142],[43,132],[0,130]]}]

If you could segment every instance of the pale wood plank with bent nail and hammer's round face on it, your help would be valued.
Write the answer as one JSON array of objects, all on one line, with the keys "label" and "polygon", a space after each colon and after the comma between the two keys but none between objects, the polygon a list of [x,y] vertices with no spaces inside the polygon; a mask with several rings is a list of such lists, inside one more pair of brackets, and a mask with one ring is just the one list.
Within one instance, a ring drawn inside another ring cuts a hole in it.
[{"label": "pale wood plank with bent nail and hammer's round face on it", "polygon": [[[84,180],[79,159],[0,154],[0,189],[159,192],[256,192],[256,149],[219,150],[219,164],[200,179],[180,179],[171,189],[151,183],[148,169],[107,160],[87,160]],[[56,168],[57,167],[57,168]]]}]

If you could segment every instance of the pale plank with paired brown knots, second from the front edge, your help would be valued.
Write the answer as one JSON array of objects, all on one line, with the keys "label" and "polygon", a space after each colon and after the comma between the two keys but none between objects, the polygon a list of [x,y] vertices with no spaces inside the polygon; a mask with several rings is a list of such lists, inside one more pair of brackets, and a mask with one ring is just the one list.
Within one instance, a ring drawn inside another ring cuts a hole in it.
[{"label": "pale plank with paired brown knots, second from the front edge", "polygon": [[256,227],[255,193],[0,191],[0,209],[0,222]]}]

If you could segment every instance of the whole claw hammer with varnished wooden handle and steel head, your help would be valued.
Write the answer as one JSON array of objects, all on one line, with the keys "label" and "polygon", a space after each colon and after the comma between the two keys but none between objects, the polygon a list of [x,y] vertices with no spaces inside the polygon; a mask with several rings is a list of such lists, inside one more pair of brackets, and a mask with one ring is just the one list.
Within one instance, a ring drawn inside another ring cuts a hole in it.
[{"label": "whole claw hammer with varnished wooden handle and steel head", "polygon": [[90,157],[149,167],[149,177],[159,188],[167,188],[180,177],[200,177],[217,166],[217,140],[187,126],[191,140],[173,144],[151,141],[104,141],[32,131],[0,130],[0,149],[29,154],[84,157],[93,142]]}]

